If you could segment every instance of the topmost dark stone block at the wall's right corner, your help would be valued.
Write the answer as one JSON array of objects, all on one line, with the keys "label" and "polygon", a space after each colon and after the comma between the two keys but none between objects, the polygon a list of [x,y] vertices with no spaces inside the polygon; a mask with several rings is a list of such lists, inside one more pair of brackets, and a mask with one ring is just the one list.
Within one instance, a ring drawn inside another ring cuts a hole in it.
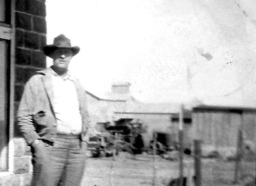
[{"label": "topmost dark stone block at the wall's right corner", "polygon": [[36,0],[27,0],[26,13],[46,17],[46,6],[45,3]]}]

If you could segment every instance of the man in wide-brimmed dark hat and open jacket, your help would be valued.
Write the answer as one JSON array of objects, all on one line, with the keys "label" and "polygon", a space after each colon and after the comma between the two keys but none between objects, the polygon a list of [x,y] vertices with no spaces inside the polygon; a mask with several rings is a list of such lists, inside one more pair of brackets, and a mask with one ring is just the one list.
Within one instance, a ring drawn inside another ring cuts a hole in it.
[{"label": "man in wide-brimmed dark hat and open jacket", "polygon": [[[59,35],[44,47],[53,59],[25,85],[18,125],[31,146],[33,186],[80,185],[86,159],[86,91],[69,70],[80,48]],[[61,179],[62,178],[62,179]]]}]

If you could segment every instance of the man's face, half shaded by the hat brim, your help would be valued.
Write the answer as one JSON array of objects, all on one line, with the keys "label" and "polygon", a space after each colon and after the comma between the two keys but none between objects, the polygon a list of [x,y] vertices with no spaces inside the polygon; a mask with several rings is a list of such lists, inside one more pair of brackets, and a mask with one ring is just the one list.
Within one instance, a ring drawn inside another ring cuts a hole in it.
[{"label": "man's face, half shaded by the hat brim", "polygon": [[71,49],[68,48],[58,48],[53,54],[53,66],[61,69],[68,70],[70,60],[73,58]]}]

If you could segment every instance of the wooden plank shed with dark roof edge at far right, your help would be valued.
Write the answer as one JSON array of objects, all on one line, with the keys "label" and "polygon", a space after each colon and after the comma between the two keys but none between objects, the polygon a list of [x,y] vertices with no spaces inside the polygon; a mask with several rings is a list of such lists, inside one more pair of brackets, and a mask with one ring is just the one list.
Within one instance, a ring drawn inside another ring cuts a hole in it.
[{"label": "wooden plank shed with dark roof edge at far right", "polygon": [[236,148],[238,130],[255,146],[256,108],[199,105],[192,113],[192,136],[215,149]]}]

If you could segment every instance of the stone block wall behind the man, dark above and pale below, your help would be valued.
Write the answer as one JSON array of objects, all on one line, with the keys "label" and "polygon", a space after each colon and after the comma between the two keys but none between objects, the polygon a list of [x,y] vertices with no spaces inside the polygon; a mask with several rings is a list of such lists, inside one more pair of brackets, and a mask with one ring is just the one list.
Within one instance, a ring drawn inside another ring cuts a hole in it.
[{"label": "stone block wall behind the man, dark above and pale below", "polygon": [[[45,0],[16,0],[15,2],[15,113],[22,97],[25,83],[35,73],[46,67],[42,47],[46,45]],[[32,175],[30,147],[14,125],[13,171],[0,174],[0,185],[30,185]]]}]

